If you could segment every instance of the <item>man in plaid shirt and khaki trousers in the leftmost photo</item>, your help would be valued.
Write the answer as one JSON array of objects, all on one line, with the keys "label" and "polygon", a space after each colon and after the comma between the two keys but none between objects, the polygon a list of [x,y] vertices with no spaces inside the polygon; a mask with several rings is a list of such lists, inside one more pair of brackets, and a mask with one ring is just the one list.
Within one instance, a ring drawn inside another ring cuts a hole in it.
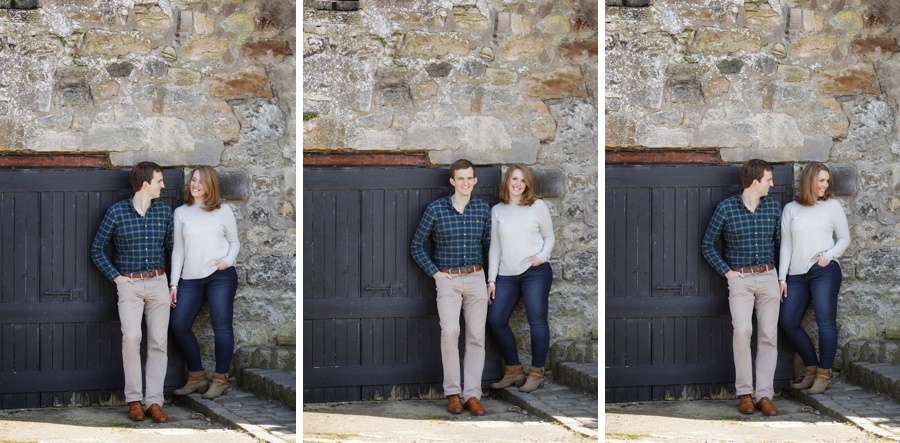
[{"label": "man in plaid shirt and khaki trousers in the leftmost photo", "polygon": [[[122,323],[122,364],[125,370],[125,401],[128,418],[146,415],[164,423],[163,382],[166,377],[166,340],[169,327],[169,285],[165,273],[166,253],[172,252],[172,208],[159,198],[165,187],[162,168],[141,162],[131,169],[134,197],[110,206],[91,245],[91,259],[107,278],[116,283],[119,320]],[[115,259],[106,256],[106,245],[115,244]],[[145,315],[146,314],[146,315]],[[141,390],[141,318],[147,322],[147,397]]]}]

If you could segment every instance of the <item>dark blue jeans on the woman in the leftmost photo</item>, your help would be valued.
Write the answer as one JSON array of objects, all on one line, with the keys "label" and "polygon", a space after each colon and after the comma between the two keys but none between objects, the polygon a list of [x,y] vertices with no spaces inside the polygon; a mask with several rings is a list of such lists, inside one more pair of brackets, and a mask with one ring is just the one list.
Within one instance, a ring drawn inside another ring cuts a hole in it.
[{"label": "dark blue jeans on the woman in the leftmost photo", "polygon": [[205,278],[181,279],[178,302],[172,309],[169,326],[178,348],[184,355],[188,371],[203,370],[200,345],[192,327],[205,300],[209,304],[209,319],[216,342],[216,372],[227,374],[234,357],[234,295],[237,292],[237,271],[229,266]]}]

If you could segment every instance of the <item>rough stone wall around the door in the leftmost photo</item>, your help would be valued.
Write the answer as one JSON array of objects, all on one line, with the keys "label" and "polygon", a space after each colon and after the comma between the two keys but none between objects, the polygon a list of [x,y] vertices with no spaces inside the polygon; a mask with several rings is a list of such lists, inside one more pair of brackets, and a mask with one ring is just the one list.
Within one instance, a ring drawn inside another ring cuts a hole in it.
[{"label": "rough stone wall around the door in the leftmost photo", "polygon": [[[295,341],[295,11],[0,0],[0,154],[216,166],[240,231],[238,348]],[[211,369],[205,313],[195,330]]]}]

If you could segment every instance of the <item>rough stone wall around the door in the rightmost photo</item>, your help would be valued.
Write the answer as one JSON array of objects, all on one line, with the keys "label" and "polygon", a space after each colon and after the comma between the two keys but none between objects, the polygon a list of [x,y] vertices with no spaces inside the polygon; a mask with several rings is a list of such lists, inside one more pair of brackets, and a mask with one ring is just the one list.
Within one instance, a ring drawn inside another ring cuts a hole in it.
[{"label": "rough stone wall around the door in the rightmost photo", "polygon": [[606,4],[607,150],[712,148],[726,163],[793,163],[795,180],[804,163],[827,162],[852,236],[840,259],[840,344],[894,334],[900,3]]}]

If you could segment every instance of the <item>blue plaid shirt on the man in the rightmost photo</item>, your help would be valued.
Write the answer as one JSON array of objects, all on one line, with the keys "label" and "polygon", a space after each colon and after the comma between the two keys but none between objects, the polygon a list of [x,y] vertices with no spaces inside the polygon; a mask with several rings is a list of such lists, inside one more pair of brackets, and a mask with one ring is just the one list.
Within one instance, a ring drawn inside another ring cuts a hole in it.
[{"label": "blue plaid shirt on the man in the rightmost photo", "polygon": [[[724,233],[724,259],[716,250],[716,240]],[[781,243],[781,205],[772,197],[763,197],[750,212],[741,195],[722,200],[706,228],[700,250],[703,258],[721,275],[731,268],[751,268],[775,263],[775,251]]]}]

